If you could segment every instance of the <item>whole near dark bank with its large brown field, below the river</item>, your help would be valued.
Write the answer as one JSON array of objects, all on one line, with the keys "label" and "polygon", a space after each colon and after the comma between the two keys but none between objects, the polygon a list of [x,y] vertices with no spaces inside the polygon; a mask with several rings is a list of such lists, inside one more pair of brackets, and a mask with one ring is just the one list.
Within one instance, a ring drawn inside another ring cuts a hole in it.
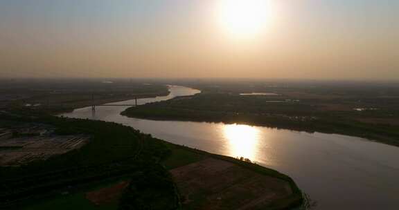
[{"label": "whole near dark bank with its large brown field, below the river", "polygon": [[34,110],[0,115],[5,129],[33,124],[52,129],[45,137],[89,137],[46,160],[0,166],[1,209],[288,209],[303,202],[291,178],[249,160],[170,144],[112,122]]}]

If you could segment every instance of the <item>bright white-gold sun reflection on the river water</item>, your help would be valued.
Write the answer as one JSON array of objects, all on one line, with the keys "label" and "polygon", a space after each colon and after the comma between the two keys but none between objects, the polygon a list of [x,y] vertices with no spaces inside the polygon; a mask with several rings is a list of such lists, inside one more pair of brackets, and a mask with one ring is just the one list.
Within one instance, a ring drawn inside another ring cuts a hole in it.
[{"label": "bright white-gold sun reflection on the river water", "polygon": [[229,124],[223,127],[224,137],[229,142],[232,157],[256,160],[256,148],[259,143],[259,131],[254,126]]}]

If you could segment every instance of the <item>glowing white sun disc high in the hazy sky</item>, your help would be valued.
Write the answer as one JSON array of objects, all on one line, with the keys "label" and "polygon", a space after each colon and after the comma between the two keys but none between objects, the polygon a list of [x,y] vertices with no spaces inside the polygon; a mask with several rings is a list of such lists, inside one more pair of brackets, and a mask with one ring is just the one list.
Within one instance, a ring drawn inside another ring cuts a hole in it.
[{"label": "glowing white sun disc high in the hazy sky", "polygon": [[218,16],[221,26],[236,37],[253,37],[267,27],[267,0],[220,0]]}]

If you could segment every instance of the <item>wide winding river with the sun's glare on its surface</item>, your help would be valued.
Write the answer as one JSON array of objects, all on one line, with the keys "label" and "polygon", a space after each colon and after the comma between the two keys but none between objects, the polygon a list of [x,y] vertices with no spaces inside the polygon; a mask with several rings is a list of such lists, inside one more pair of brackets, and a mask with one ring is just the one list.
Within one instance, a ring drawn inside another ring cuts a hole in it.
[{"label": "wide winding river with the sun's glare on its surface", "polygon": [[[170,86],[170,95],[139,99],[138,104],[195,93],[199,90]],[[399,147],[245,124],[140,120],[120,115],[126,108],[79,108],[64,116],[118,122],[175,144],[249,158],[290,175],[310,196],[310,209],[399,209]]]}]

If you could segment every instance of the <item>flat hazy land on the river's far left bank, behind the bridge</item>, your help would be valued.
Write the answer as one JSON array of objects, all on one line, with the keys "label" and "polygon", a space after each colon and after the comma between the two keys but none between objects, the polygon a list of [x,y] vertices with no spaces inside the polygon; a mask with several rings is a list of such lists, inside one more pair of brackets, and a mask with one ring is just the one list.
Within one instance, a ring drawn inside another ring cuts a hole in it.
[{"label": "flat hazy land on the river's far left bank, behind the bridge", "polygon": [[0,108],[17,111],[32,109],[52,115],[70,113],[76,108],[94,104],[108,104],[170,94],[167,85],[120,80],[112,83],[91,80],[11,82],[5,87],[0,88],[2,94]]}]

